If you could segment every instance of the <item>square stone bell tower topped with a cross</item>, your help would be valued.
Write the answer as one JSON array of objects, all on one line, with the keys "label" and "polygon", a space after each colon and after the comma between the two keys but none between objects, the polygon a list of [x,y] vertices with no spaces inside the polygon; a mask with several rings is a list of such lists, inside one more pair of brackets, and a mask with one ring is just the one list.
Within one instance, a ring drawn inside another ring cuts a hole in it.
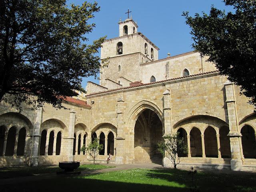
[{"label": "square stone bell tower topped with a cross", "polygon": [[137,23],[127,13],[128,18],[118,22],[119,36],[105,40],[100,51],[100,58],[109,61],[101,69],[100,86],[108,90],[140,81],[140,64],[158,60],[159,48],[137,31]]}]

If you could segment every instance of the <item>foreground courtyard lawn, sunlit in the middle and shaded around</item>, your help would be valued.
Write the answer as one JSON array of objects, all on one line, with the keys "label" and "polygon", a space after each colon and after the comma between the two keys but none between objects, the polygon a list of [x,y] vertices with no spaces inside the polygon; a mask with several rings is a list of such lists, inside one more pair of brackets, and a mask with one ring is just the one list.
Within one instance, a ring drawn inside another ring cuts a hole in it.
[{"label": "foreground courtyard lawn, sunlit in the middle and shaded around", "polygon": [[[93,167],[93,165],[92,165]],[[93,168],[92,168],[93,169]],[[4,180],[4,179],[3,179]],[[3,182],[0,180],[0,182]],[[189,192],[191,176],[174,169],[131,169],[82,176],[53,175],[42,180],[0,186],[0,191],[174,191]],[[195,184],[200,192],[255,192],[256,174],[198,172]]]}]

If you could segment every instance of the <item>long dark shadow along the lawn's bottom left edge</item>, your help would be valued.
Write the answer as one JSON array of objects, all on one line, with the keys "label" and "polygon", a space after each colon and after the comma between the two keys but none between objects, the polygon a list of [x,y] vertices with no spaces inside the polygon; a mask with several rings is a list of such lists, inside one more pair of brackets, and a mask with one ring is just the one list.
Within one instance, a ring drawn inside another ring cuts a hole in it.
[{"label": "long dark shadow along the lawn's bottom left edge", "polygon": [[159,186],[151,184],[134,184],[118,181],[102,181],[86,178],[62,177],[51,180],[1,186],[1,192],[45,192],[45,191],[97,191],[104,192],[188,192],[188,188]]}]

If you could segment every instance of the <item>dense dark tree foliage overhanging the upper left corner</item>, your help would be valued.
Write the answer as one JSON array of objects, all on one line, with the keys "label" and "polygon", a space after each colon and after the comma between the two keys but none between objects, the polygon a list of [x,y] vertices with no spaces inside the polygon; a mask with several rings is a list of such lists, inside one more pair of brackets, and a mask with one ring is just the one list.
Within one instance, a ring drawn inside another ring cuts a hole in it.
[{"label": "dense dark tree foliage overhanging the upper left corner", "polygon": [[1,0],[0,101],[60,108],[65,96],[83,92],[82,78],[100,69],[95,54],[105,37],[85,44],[99,10],[96,2],[68,7],[66,0]]}]

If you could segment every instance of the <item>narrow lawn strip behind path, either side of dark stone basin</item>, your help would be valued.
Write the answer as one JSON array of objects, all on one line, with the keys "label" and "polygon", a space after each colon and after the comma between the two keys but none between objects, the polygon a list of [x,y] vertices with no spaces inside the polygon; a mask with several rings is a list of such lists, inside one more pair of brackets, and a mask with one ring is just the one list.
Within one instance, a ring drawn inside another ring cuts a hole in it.
[{"label": "narrow lawn strip behind path, either side of dark stone basin", "polygon": [[[105,165],[99,165],[99,164],[85,164],[85,165],[80,165],[77,170],[78,171],[99,170],[99,169],[112,168],[112,167],[113,166],[105,166]],[[7,168],[0,168],[0,179],[14,178],[14,177],[20,177],[20,176],[32,176],[35,174],[52,173],[57,171],[61,171],[61,169],[58,166],[7,167]]]}]

